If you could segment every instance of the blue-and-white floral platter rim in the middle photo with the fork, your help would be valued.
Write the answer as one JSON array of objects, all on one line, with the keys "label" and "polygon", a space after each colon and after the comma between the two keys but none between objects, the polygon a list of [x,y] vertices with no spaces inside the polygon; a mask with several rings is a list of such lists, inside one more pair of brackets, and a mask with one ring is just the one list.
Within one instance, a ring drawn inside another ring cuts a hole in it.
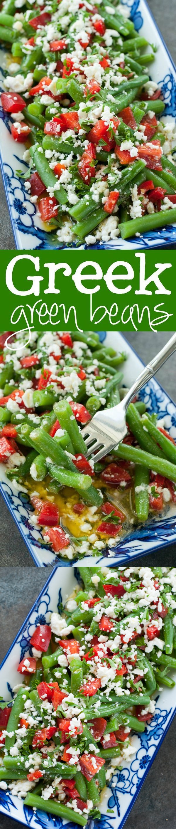
[{"label": "blue-and-white floral platter rim in the middle photo with the fork", "polygon": [[[124,384],[129,386],[131,382],[136,379],[138,373],[142,368],[142,362],[133,351],[126,338],[121,333],[99,332],[101,342],[107,337],[108,345],[117,349],[117,351],[126,351],[127,360],[123,365]],[[145,385],[144,389],[140,390],[140,400],[143,400],[148,411],[156,412],[159,419],[164,418],[165,426],[169,429],[171,437],[176,439],[176,405],[173,400],[161,388],[159,383],[155,380],[150,381]],[[50,550],[50,546],[45,544],[40,530],[36,529],[31,522],[33,514],[33,507],[31,506],[27,492],[17,492],[14,490],[12,482],[6,477],[3,464],[0,465],[0,492],[7,502],[7,507],[12,513],[12,517],[17,523],[18,530],[21,532],[23,541],[31,553],[33,560],[38,567],[45,567],[46,565],[56,565],[57,567],[72,566],[72,562],[66,559],[58,558],[55,553]],[[119,544],[112,549],[103,550],[102,555],[97,558],[93,556],[84,556],[82,558],[83,565],[93,564],[119,564],[122,565],[136,558],[137,556],[147,555],[147,553],[157,548],[164,547],[168,544],[174,544],[176,541],[176,506],[168,507],[168,512],[164,518],[151,518],[144,526],[138,526],[133,529],[124,539],[119,541]],[[74,559],[76,563],[76,559]]]}]

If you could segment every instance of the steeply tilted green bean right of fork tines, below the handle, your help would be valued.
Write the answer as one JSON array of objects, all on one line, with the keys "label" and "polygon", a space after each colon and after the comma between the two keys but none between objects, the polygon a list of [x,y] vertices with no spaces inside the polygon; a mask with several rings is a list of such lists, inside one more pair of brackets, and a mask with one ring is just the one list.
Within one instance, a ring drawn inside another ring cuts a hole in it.
[{"label": "steeply tilted green bean right of fork tines, below the handle", "polygon": [[126,420],[140,447],[145,449],[145,452],[157,455],[157,458],[163,458],[163,452],[158,448],[155,440],[152,437],[150,438],[150,434],[143,428],[144,420],[140,419],[140,414],[136,410],[134,403],[130,403],[127,408]]}]

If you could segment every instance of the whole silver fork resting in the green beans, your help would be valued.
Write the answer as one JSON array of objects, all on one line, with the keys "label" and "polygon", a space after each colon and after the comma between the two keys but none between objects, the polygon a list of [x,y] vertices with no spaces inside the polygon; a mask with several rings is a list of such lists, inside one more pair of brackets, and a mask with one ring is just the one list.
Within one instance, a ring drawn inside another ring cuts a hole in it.
[{"label": "whole silver fork resting in the green beans", "polygon": [[148,366],[145,366],[143,371],[137,377],[136,381],[131,385],[131,389],[127,391],[121,403],[117,406],[112,406],[112,409],[104,409],[93,415],[93,419],[81,430],[83,439],[87,447],[86,457],[95,454],[96,462],[103,458],[104,455],[111,452],[112,448],[120,444],[121,440],[125,438],[126,427],[126,409],[131,400],[136,395],[150,377],[155,375],[160,366],[163,366],[165,360],[176,350],[176,333],[166,343],[164,348],[159,351],[151,360]]}]

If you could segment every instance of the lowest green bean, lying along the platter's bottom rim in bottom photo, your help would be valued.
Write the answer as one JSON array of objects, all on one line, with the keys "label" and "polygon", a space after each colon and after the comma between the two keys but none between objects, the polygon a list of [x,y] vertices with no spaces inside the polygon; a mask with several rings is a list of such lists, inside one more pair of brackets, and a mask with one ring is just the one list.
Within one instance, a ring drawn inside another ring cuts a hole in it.
[{"label": "lowest green bean, lying along the platter's bottom rim in bottom photo", "polygon": [[38,797],[38,795],[33,792],[27,794],[24,805],[36,808],[37,811],[40,809],[42,812],[49,812],[50,814],[61,817],[63,820],[67,820],[68,822],[70,822],[71,817],[74,823],[78,823],[82,827],[85,826],[88,820],[88,816],[84,817],[83,814],[79,815],[78,812],[74,812],[74,809],[71,810],[70,815],[70,808],[68,806],[63,806],[62,803],[56,802],[56,800],[44,800],[43,797]]}]

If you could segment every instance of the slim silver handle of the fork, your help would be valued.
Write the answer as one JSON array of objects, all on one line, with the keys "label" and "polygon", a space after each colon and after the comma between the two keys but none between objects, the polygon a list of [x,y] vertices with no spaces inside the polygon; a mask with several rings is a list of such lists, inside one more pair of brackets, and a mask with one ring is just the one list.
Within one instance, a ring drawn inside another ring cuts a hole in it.
[{"label": "slim silver handle of the fork", "polygon": [[160,366],[163,366],[165,360],[168,360],[168,357],[176,351],[176,333],[174,333],[173,337],[170,337],[169,342],[166,342],[164,348],[159,351],[153,360],[148,363],[148,366],[145,366],[143,371],[141,371],[140,375],[137,377],[135,383],[131,386],[131,389],[127,391],[126,396],[123,398],[123,405],[125,405],[125,409],[131,400],[136,395],[137,391],[139,391],[145,383],[150,380],[150,377],[153,377],[156,371],[159,370]]}]

